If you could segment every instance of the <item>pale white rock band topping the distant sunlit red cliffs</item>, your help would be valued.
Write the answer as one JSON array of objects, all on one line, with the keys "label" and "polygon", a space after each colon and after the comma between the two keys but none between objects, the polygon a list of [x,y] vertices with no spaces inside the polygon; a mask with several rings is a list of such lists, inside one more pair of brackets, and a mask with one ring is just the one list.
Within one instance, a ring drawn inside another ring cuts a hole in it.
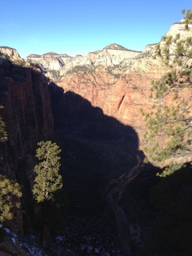
[{"label": "pale white rock band topping the distant sunlit red cliffs", "polygon": [[130,64],[131,60],[138,54],[140,52],[112,44],[102,50],[89,53],[87,56],[77,55],[72,58],[66,54],[47,53],[41,56],[30,54],[26,61],[38,63],[49,78],[58,78],[78,72],[78,70],[90,72],[90,70],[95,70],[97,66],[109,68],[119,66],[122,62],[124,66]]}]

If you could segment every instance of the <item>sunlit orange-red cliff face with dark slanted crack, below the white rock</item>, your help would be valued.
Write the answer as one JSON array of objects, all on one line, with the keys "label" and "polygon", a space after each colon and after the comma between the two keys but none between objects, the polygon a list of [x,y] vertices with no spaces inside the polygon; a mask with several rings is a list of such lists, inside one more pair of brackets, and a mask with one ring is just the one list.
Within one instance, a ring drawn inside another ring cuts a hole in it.
[{"label": "sunlit orange-red cliff face with dark slanted crack, below the white rock", "polygon": [[92,73],[66,75],[55,83],[65,93],[71,91],[81,95],[92,106],[101,108],[103,114],[132,126],[141,138],[145,125],[140,110],[150,109],[151,82],[161,78],[165,71],[159,60],[142,59],[142,65],[135,62],[135,66],[123,74],[111,74],[100,66]]}]

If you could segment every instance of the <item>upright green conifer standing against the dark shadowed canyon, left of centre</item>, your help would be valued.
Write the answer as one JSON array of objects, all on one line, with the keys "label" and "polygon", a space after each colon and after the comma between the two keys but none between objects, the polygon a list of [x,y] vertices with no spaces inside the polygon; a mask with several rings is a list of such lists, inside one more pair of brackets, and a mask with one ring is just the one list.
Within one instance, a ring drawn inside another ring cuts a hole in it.
[{"label": "upright green conifer standing against the dark shadowed canyon, left of centre", "polygon": [[56,143],[39,142],[36,157],[39,162],[34,167],[34,199],[37,202],[53,201],[54,194],[62,188],[62,176],[58,174],[61,152]]}]

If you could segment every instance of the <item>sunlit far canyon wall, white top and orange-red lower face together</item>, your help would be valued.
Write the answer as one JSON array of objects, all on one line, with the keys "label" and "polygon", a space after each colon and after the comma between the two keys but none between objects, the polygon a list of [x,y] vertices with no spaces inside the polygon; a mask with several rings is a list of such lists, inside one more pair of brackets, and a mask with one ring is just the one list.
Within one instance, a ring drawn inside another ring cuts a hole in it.
[{"label": "sunlit far canyon wall, white top and orange-red lower face together", "polygon": [[[150,108],[151,81],[166,73],[161,59],[153,58],[154,48],[150,45],[143,52],[135,52],[112,44],[87,56],[32,54],[26,61],[38,63],[46,77],[64,93],[78,94],[93,107],[102,109],[103,114],[134,127],[140,138],[145,129],[140,110]],[[62,66],[52,70],[55,62],[62,62]]]}]

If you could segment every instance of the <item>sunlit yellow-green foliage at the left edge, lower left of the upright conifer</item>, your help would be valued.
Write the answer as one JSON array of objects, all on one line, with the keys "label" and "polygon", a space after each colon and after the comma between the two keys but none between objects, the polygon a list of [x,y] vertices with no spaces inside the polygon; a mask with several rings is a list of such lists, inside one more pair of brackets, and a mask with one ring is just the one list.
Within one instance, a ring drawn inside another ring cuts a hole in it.
[{"label": "sunlit yellow-green foliage at the left edge, lower left of the upright conifer", "polygon": [[0,222],[12,219],[14,208],[20,207],[21,187],[14,180],[0,174]]}]

